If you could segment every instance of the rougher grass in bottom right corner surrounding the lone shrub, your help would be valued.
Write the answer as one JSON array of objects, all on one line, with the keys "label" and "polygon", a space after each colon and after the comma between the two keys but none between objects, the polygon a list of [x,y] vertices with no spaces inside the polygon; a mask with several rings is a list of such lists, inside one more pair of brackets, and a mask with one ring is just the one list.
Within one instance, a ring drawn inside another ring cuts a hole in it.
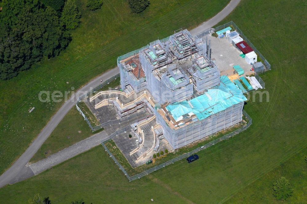
[{"label": "rougher grass in bottom right corner surrounding the lone shrub", "polygon": [[294,153],[287,161],[234,194],[226,203],[280,203],[272,195],[272,185],[282,176],[289,180],[293,188],[293,196],[286,199],[286,203],[306,203],[306,156],[306,148]]}]

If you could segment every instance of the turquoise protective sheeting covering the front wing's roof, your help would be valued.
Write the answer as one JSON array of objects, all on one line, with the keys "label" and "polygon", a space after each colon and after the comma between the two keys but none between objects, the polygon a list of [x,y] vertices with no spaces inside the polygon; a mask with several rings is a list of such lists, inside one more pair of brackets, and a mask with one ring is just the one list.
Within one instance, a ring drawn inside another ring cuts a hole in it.
[{"label": "turquoise protective sheeting covering the front wing's roof", "polygon": [[185,116],[196,115],[197,119],[202,120],[212,114],[225,110],[235,104],[239,104],[247,98],[227,76],[221,76],[221,83],[211,89],[208,89],[203,95],[191,100],[184,100],[166,106],[177,121]]}]

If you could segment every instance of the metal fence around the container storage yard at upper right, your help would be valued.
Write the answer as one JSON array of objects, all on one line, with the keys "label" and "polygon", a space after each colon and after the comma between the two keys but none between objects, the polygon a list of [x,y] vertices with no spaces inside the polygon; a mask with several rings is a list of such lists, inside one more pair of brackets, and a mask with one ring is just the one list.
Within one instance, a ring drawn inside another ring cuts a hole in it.
[{"label": "metal fence around the container storage yard at upper right", "polygon": [[248,40],[248,38],[243,34],[243,32],[238,28],[237,25],[235,25],[235,23],[233,21],[230,21],[228,23],[225,23],[224,25],[220,25],[216,28],[209,28],[204,30],[203,32],[200,32],[199,34],[197,34],[197,37],[204,37],[212,32],[215,31],[219,31],[222,30],[224,28],[227,28],[229,26],[232,26],[238,33],[239,35],[242,37],[243,40],[245,40],[245,42],[247,42],[247,44],[253,48],[253,50],[255,51],[255,53],[262,59],[263,63],[264,63],[264,69],[260,70],[257,74],[262,74],[268,70],[271,70],[271,65],[270,63],[263,57],[263,55],[256,49],[256,47],[251,43],[250,40]]}]

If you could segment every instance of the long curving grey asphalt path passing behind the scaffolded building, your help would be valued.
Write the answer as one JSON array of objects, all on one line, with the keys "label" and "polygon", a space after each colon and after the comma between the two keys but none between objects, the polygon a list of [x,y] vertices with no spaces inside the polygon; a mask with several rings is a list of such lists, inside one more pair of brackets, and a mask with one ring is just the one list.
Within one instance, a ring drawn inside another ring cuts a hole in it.
[{"label": "long curving grey asphalt path passing behind the scaffolded building", "polygon": [[[196,35],[212,26],[218,24],[221,20],[223,20],[235,7],[239,4],[240,0],[231,0],[229,4],[216,16],[212,17],[210,20],[202,23],[196,28],[192,29],[190,33],[192,35]],[[52,116],[47,125],[43,128],[41,133],[37,136],[37,138],[31,143],[28,149],[15,161],[15,163],[4,172],[0,176],[0,188],[5,186],[6,184],[13,184],[19,181],[25,180],[34,175],[31,168],[27,165],[30,159],[34,156],[37,150],[41,147],[41,145],[45,142],[45,140],[52,133],[54,128],[60,123],[60,121],[64,118],[64,116],[68,113],[68,111],[76,104],[78,97],[88,90],[98,86],[103,79],[103,81],[119,74],[119,68],[115,67],[99,77],[96,77],[88,84],[81,87],[72,97],[64,102],[63,106],[56,112],[55,115]]]}]

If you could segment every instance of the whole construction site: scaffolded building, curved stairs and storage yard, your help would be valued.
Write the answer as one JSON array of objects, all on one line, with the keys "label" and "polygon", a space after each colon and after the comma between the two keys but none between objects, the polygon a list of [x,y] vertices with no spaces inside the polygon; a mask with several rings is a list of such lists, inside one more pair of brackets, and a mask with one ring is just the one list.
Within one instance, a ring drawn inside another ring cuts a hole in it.
[{"label": "whole construction site: scaffolded building, curved stairs and storage yard", "polygon": [[199,38],[180,29],[120,56],[120,87],[85,100],[102,125],[125,121],[118,126],[129,132],[113,141],[132,167],[159,149],[174,151],[242,122],[244,93],[264,88],[254,70],[261,62],[244,59],[240,36],[230,30]]}]

